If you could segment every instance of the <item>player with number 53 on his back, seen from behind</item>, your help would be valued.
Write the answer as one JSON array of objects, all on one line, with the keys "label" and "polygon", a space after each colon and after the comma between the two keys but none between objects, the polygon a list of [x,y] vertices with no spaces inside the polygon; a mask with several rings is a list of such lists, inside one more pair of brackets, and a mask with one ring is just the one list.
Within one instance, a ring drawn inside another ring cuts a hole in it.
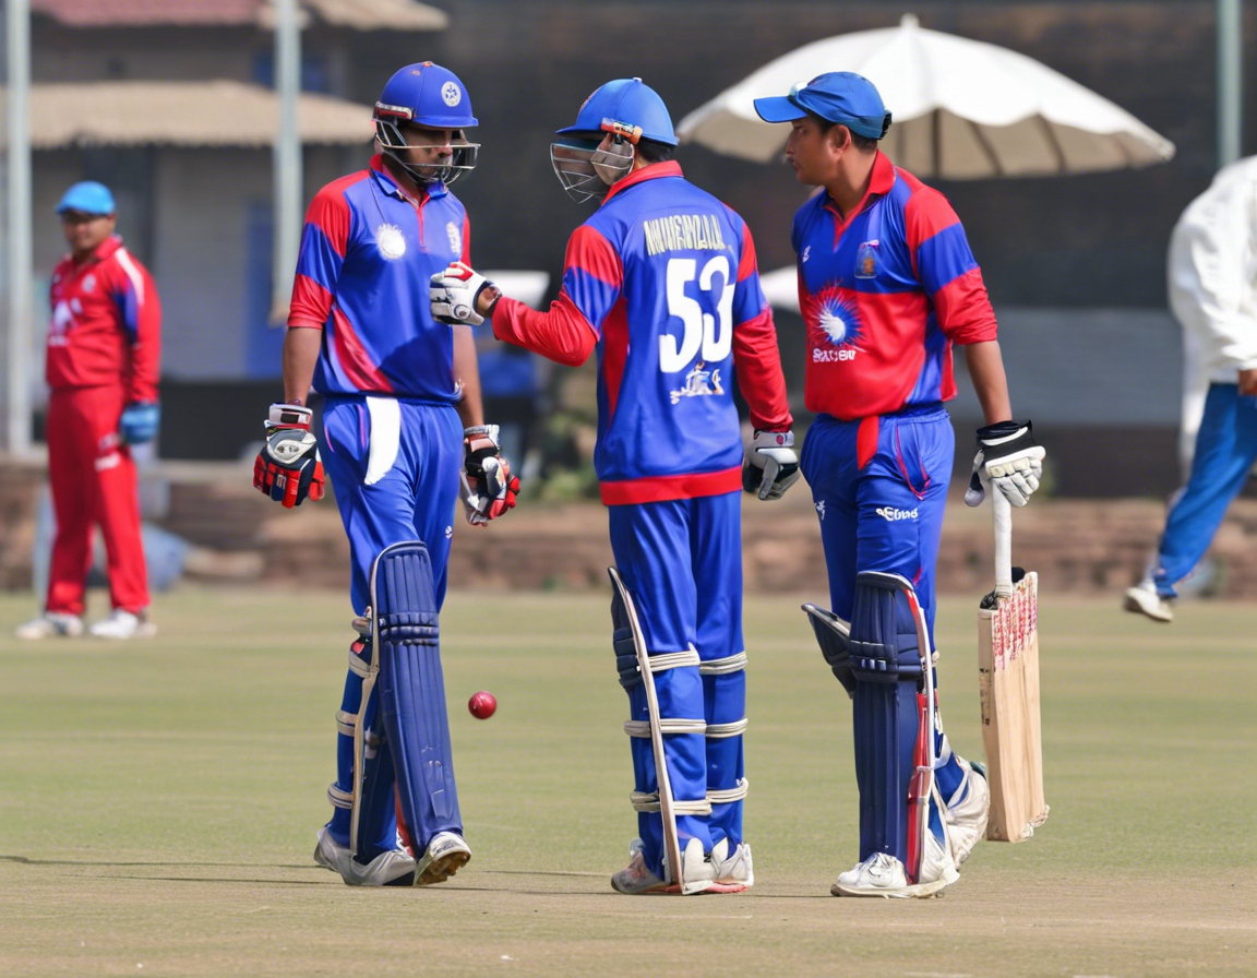
[{"label": "player with number 53 on his back, seen from behind", "polygon": [[[640,838],[620,893],[737,891],[754,881],[747,793],[740,493],[776,499],[798,478],[772,313],[750,231],[688,182],[662,99],[639,78],[598,88],[558,131],[554,171],[598,199],[567,245],[548,312],[500,297],[461,265],[434,279],[439,317],[479,324],[559,363],[598,357],[595,466],[618,571],[652,660],[681,866],[664,864],[646,694],[622,651]],[[733,372],[755,429],[743,459]],[[612,606],[617,629],[625,610]]]}]

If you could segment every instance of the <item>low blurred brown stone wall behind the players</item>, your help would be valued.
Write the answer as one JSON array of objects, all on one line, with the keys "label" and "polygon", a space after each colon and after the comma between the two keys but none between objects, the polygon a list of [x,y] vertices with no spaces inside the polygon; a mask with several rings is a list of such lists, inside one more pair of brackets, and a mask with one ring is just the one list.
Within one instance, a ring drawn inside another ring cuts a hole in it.
[{"label": "low blurred brown stone wall behind the players", "polygon": [[[187,577],[275,587],[348,586],[348,546],[333,500],[284,512],[258,495],[245,466],[162,466],[170,479],[161,525],[194,544]],[[0,468],[0,587],[30,586],[39,468]],[[957,486],[959,489],[959,485]],[[1038,571],[1047,592],[1115,595],[1139,578],[1160,533],[1159,500],[1036,499],[1013,518],[1014,563]],[[804,486],[779,503],[743,499],[748,591],[826,591],[816,514]],[[993,585],[991,509],[950,502],[938,587],[974,597]],[[1257,500],[1239,499],[1212,554],[1212,590],[1257,598]],[[454,524],[451,587],[603,588],[612,562],[601,505],[529,504],[486,529]]]}]

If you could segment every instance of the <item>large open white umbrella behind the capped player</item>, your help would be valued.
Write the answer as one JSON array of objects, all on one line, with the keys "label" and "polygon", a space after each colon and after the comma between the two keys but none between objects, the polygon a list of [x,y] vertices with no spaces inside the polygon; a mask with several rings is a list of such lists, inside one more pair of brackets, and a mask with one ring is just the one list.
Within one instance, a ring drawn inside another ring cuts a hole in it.
[{"label": "large open white umbrella behind the capped player", "polygon": [[1077,82],[1007,48],[925,30],[911,14],[897,28],[818,40],[769,62],[681,119],[678,133],[767,162],[789,127],[762,122],[753,101],[825,72],[857,72],[877,85],[894,116],[881,148],[921,177],[1082,173],[1174,155],[1169,140]]}]

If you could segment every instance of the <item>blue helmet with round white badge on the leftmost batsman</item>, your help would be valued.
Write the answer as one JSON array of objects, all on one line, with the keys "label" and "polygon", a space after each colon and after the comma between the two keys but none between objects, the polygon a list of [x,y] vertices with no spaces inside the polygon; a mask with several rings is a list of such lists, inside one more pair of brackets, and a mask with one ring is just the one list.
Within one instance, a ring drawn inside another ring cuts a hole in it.
[{"label": "blue helmet with round white badge on the leftmost batsman", "polygon": [[[420,184],[453,184],[475,170],[480,143],[466,142],[463,129],[480,124],[471,114],[471,97],[454,72],[431,62],[407,64],[385,84],[375,112],[376,141],[381,152]],[[440,163],[414,163],[402,157],[411,147],[402,126],[456,129],[450,155]]]}]

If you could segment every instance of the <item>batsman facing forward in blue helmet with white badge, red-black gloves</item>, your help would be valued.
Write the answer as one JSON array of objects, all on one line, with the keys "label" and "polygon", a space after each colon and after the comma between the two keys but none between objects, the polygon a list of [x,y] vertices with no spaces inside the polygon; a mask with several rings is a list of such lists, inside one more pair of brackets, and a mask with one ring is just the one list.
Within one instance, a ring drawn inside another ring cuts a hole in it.
[{"label": "batsman facing forward in blue helmet with white badge, red-black gloves", "polygon": [[333,815],[314,859],[349,885],[426,885],[471,855],[437,645],[460,469],[474,524],[513,507],[519,480],[481,416],[471,331],[436,323],[426,302],[430,277],[470,254],[466,212],[449,190],[476,161],[470,96],[453,72],[411,64],[373,118],[378,153],[323,187],[305,216],[285,402],[272,405],[254,484],[285,507],[323,495],[305,406],[313,382],[358,616]]}]

